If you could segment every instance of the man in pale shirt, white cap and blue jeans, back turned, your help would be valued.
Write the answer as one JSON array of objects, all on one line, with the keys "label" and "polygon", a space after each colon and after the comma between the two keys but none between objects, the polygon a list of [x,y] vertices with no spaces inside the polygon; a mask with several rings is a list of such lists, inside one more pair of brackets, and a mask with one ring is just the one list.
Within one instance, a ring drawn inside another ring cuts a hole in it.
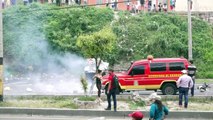
[{"label": "man in pale shirt, white cap and blue jeans, back turned", "polygon": [[179,77],[176,84],[179,88],[179,106],[182,107],[182,101],[184,96],[184,108],[188,107],[188,92],[193,86],[193,81],[190,76],[187,75],[187,70],[182,70],[182,76]]}]

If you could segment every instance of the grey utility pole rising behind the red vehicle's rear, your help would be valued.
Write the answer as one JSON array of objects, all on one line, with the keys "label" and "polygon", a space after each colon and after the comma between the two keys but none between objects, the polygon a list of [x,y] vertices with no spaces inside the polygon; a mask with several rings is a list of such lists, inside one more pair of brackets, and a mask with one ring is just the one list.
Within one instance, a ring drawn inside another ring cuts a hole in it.
[{"label": "grey utility pole rising behind the red vehicle's rear", "polygon": [[188,59],[192,58],[192,20],[191,20],[191,3],[192,0],[188,0]]}]

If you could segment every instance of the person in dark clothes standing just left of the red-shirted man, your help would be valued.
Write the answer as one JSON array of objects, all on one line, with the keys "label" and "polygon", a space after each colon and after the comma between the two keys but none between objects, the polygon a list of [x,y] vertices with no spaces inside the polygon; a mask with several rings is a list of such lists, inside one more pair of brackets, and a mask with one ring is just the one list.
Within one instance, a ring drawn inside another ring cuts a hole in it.
[{"label": "person in dark clothes standing just left of the red-shirted man", "polygon": [[98,100],[101,101],[101,81],[102,81],[102,71],[98,70],[95,76],[93,77],[96,81],[96,87],[98,89]]}]

